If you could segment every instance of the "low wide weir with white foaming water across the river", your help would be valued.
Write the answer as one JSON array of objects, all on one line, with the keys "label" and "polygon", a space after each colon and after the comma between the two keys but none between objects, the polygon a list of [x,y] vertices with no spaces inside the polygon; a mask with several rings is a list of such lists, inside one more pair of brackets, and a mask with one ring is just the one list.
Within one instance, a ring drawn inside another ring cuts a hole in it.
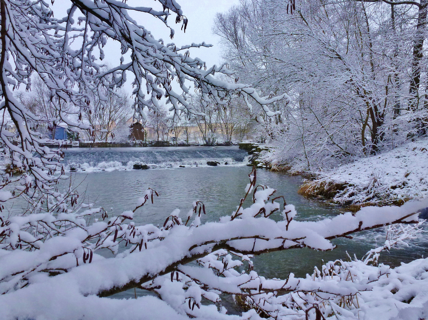
[{"label": "low wide weir with white foaming water across the river", "polygon": [[247,151],[232,147],[148,147],[148,148],[73,148],[65,151],[64,163],[73,171],[125,170],[134,164],[150,169],[179,166],[207,166],[207,161],[223,165],[248,163]]}]

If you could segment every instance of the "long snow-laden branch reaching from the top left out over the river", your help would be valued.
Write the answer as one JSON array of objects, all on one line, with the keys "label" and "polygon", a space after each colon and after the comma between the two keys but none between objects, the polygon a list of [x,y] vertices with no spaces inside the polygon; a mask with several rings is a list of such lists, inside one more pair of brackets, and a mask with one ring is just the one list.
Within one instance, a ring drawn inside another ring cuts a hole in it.
[{"label": "long snow-laden branch reaching from the top left out over the river", "polygon": [[[202,100],[205,103],[214,99],[216,103],[226,104],[231,94],[238,91],[244,95],[245,99],[250,96],[256,100],[268,115],[276,113],[271,112],[267,105],[283,98],[289,99],[286,94],[278,97],[259,97],[257,92],[248,85],[228,83],[212,77],[216,73],[231,74],[231,72],[226,65],[212,66],[207,69],[202,60],[191,58],[188,51],[184,54],[177,52],[185,48],[206,46],[205,43],[192,44],[180,49],[177,49],[173,43],[164,45],[163,40],[156,40],[148,30],[128,15],[128,10],[132,9],[130,7],[118,6],[113,1],[73,0],[72,2],[86,14],[88,27],[94,32],[93,39],[106,41],[105,38],[110,38],[121,43],[123,54],[128,50],[131,51],[131,63],[121,63],[121,66],[103,72],[98,77],[103,81],[102,78],[112,74],[114,79],[110,85],[122,85],[126,79],[125,72],[133,73],[135,75],[133,93],[136,95],[138,106],[136,111],[140,112],[144,119],[146,116],[143,108],[147,106],[157,111],[161,97],[166,97],[167,102],[172,104],[170,110],[173,110],[177,117],[182,110],[194,114],[192,106],[183,95],[188,93],[186,81],[192,82],[202,93]],[[177,5],[169,2],[162,2],[162,5],[165,13],[164,21],[168,17],[165,9],[170,9],[177,14],[176,23],[182,22],[185,29],[187,18],[182,15],[181,10],[177,9]],[[152,12],[148,13],[153,15]],[[173,35],[171,29],[171,38]],[[180,84],[181,93],[172,89],[171,82],[174,78],[177,78]],[[250,104],[248,106],[250,107]]]}]

